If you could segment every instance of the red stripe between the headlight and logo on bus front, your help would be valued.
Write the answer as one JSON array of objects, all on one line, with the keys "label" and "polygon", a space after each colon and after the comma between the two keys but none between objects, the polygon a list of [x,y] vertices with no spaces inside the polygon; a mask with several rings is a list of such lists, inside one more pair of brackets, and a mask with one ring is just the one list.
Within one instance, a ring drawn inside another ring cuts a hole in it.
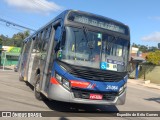
[{"label": "red stripe between the headlight and logo on bus front", "polygon": [[70,80],[71,87],[78,87],[78,88],[87,88],[90,85],[90,82],[82,82],[78,80]]}]

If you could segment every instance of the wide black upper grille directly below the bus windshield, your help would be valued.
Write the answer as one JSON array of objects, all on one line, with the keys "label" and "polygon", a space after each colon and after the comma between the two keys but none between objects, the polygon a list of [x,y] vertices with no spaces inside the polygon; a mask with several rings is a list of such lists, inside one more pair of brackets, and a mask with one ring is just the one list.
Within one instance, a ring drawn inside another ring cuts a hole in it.
[{"label": "wide black upper grille directly below the bus windshield", "polygon": [[70,65],[62,61],[58,61],[58,63],[63,66],[70,74],[86,80],[118,82],[124,79],[125,75],[127,74],[127,72],[106,71],[84,66],[81,67]]}]

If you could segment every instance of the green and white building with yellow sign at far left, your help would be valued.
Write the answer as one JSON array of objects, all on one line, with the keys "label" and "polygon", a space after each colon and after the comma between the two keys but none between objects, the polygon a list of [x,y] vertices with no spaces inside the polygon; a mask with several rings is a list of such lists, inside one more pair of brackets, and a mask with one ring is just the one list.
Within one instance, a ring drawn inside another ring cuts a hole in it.
[{"label": "green and white building with yellow sign at far left", "polygon": [[13,46],[2,46],[1,65],[17,65],[21,48]]}]

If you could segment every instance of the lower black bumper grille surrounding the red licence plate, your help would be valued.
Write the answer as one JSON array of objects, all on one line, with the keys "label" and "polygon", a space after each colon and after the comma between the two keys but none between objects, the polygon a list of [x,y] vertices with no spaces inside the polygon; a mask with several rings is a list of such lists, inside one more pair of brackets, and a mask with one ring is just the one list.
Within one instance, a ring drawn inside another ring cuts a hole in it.
[{"label": "lower black bumper grille surrounding the red licence plate", "polygon": [[78,89],[77,90],[72,89],[72,92],[75,98],[81,98],[81,99],[89,99],[90,94],[101,94],[103,96],[102,100],[114,101],[116,96],[118,96],[118,93],[116,92],[102,93],[102,92],[94,92],[94,91],[83,91]]}]

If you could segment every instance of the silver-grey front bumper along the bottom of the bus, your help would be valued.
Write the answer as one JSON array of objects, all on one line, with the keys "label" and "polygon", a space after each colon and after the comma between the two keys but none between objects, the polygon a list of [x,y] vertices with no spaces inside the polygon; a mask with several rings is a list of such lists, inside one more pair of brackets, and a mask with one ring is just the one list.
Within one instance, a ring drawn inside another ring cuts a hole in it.
[{"label": "silver-grey front bumper along the bottom of the bus", "polygon": [[115,96],[115,99],[110,100],[90,100],[90,99],[82,99],[75,98],[74,93],[66,90],[61,85],[50,84],[48,98],[63,101],[63,102],[71,102],[71,103],[82,103],[82,104],[99,104],[99,105],[123,105],[126,99],[126,89],[122,94]]}]

